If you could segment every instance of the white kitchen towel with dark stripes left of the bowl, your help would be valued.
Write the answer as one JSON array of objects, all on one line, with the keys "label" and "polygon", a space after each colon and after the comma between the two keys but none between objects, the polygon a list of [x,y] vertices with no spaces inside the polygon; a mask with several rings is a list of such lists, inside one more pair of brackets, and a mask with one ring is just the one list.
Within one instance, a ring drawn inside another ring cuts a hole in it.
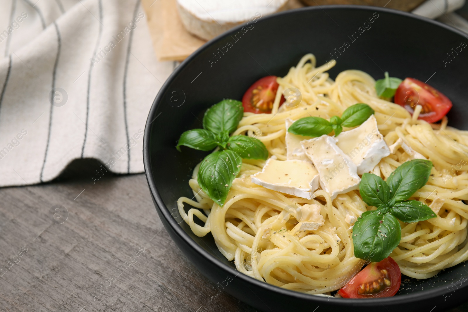
[{"label": "white kitchen towel with dark stripes left of the bowl", "polygon": [[0,186],[50,181],[72,160],[143,172],[143,130],[172,62],[140,0],[3,0]]}]

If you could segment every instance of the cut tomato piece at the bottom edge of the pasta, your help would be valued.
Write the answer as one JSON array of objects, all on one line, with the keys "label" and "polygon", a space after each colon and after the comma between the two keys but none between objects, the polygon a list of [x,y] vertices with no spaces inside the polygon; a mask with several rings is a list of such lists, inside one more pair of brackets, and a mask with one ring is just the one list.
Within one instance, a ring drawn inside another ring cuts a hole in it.
[{"label": "cut tomato piece at the bottom edge of the pasta", "polygon": [[380,262],[371,262],[351,278],[338,294],[344,298],[392,297],[400,289],[402,273],[395,260],[388,257]]}]

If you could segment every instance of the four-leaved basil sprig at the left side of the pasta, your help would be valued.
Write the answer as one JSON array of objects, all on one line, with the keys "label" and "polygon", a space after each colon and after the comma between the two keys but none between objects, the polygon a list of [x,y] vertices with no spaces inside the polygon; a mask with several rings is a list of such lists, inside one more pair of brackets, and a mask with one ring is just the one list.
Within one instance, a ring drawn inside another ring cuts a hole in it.
[{"label": "four-leaved basil sprig at the left side of the pasta", "polygon": [[183,132],[176,146],[179,151],[181,145],[200,151],[211,151],[219,146],[218,152],[212,152],[202,161],[197,178],[203,191],[219,206],[224,205],[232,182],[241,170],[242,158],[268,158],[262,141],[243,135],[229,137],[237,129],[243,113],[242,102],[223,100],[205,112],[204,129]]}]

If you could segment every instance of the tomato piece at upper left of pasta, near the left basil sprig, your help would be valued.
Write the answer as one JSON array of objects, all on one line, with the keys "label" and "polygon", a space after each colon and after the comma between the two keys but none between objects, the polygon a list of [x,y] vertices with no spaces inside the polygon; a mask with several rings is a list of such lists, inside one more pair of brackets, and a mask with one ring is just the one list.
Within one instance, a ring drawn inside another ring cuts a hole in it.
[{"label": "tomato piece at upper left of pasta, near the left basil sprig", "polygon": [[[242,97],[244,112],[255,114],[271,113],[273,102],[275,102],[276,91],[278,91],[278,82],[276,76],[263,77],[247,89]],[[285,102],[284,96],[281,96],[279,105]]]}]

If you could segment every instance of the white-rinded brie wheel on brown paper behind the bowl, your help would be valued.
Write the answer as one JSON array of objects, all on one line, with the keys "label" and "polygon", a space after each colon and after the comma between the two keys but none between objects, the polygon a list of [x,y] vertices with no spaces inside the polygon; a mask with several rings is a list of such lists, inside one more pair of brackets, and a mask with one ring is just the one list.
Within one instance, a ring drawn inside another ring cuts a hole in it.
[{"label": "white-rinded brie wheel on brown paper behind the bowl", "polygon": [[[177,0],[180,19],[187,31],[205,40],[249,22],[237,41],[255,27],[259,18],[285,8],[288,0]],[[234,42],[232,42],[234,44]]]}]

